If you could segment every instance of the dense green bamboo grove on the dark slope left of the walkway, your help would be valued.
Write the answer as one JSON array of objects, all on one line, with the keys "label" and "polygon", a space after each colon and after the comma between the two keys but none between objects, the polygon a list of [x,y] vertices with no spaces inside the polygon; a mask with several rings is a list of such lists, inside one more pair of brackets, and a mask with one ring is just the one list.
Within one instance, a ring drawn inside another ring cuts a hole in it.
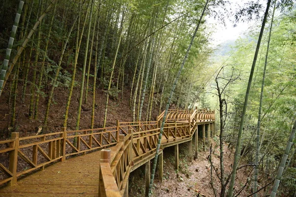
[{"label": "dense green bamboo grove on the dark slope left of the walkway", "polygon": [[[65,103],[64,111],[58,109],[58,116],[63,114],[63,127],[80,128],[84,111],[91,111],[89,128],[105,127],[110,124],[108,100],[121,102],[125,91],[129,91],[133,120],[154,120],[164,109],[182,60],[181,46],[188,42],[192,31],[189,22],[196,20],[199,12],[199,2],[193,0],[13,2],[19,2],[19,7],[1,66],[1,98],[8,98],[11,107],[7,111],[11,114],[10,132],[27,118],[43,132],[50,132],[57,99]],[[195,63],[210,56],[206,36],[201,31],[190,52],[196,55],[182,75],[192,75]],[[195,91],[199,88],[198,80],[192,84],[192,77],[183,78],[182,86],[189,85],[176,87],[181,95],[191,92],[192,87]],[[184,108],[192,98],[176,96],[172,101]],[[18,113],[20,109],[25,116]],[[88,127],[83,124],[84,129]]]}]

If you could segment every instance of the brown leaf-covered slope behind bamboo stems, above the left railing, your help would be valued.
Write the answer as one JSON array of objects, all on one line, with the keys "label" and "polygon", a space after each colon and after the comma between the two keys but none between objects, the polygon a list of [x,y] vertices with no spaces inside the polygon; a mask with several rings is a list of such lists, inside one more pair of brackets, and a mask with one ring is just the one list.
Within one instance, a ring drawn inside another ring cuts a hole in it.
[{"label": "brown leaf-covered slope behind bamboo stems, above the left railing", "polygon": [[[79,76],[79,74],[78,74]],[[79,79],[76,79],[79,81]],[[92,80],[90,79],[90,84]],[[8,85],[6,87],[9,87]],[[22,83],[18,85],[18,92],[22,92]],[[49,89],[48,87],[47,89]],[[69,90],[64,87],[57,87],[54,91],[54,96],[52,99],[52,104],[49,110],[48,125],[46,132],[58,132],[61,131],[64,122],[64,114],[66,109],[66,103],[68,99]],[[80,86],[75,86],[73,89],[73,95],[71,99],[71,105],[69,108],[69,117],[67,121],[67,131],[75,130],[76,119],[77,119],[77,109],[78,109],[78,99],[79,99]],[[36,135],[39,127],[43,127],[43,121],[45,116],[45,109],[47,104],[47,98],[40,95],[39,105],[38,105],[38,117],[37,119],[29,120],[29,106],[30,106],[30,84],[28,84],[27,91],[24,100],[21,99],[21,95],[17,95],[16,103],[16,124],[14,128],[10,128],[10,117],[11,117],[11,100],[9,99],[9,91],[6,89],[0,97],[0,140],[9,137],[9,133],[19,132],[20,136],[30,136]],[[148,95],[146,94],[142,120],[146,119],[147,105],[148,105]],[[158,94],[154,95],[154,99],[160,99]],[[139,97],[138,97],[139,98]],[[138,99],[137,98],[137,99]],[[106,127],[112,127],[116,125],[116,121],[120,122],[131,122],[133,120],[133,113],[129,107],[130,100],[130,90],[125,89],[118,93],[118,99],[109,98],[108,114]],[[84,96],[83,96],[84,101]],[[95,99],[95,122],[94,128],[102,128],[104,122],[104,112],[106,104],[106,93],[102,89],[96,90]],[[35,106],[35,102],[34,102]],[[90,129],[91,124],[91,108],[92,108],[92,87],[89,88],[88,98],[86,103],[82,103],[81,118],[79,129]],[[137,119],[138,105],[136,105],[136,119]],[[155,105],[153,102],[151,120],[155,120],[159,113],[159,105]],[[9,128],[9,129],[8,129]],[[9,131],[8,131],[9,130]],[[45,133],[46,133],[45,132]],[[44,134],[44,132],[43,132]]]}]

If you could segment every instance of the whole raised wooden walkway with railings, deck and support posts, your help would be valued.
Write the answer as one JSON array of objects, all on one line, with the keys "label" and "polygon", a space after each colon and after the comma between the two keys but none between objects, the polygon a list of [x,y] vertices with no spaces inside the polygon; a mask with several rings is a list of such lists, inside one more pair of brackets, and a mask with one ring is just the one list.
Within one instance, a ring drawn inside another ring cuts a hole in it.
[{"label": "whole raised wooden walkway with railings, deck and support posts", "polygon": [[[143,164],[147,195],[150,160],[155,156],[163,114],[156,121],[117,121],[115,127],[109,128],[62,128],[60,132],[29,137],[12,133],[11,139],[0,141],[0,156],[9,160],[0,164],[0,197],[127,197],[129,174]],[[206,141],[215,135],[215,111],[169,110],[158,157],[160,181],[162,150],[175,146],[178,169],[179,144],[189,141],[191,160],[193,136],[197,154],[198,125],[205,149]],[[71,157],[74,155],[83,156]]]}]

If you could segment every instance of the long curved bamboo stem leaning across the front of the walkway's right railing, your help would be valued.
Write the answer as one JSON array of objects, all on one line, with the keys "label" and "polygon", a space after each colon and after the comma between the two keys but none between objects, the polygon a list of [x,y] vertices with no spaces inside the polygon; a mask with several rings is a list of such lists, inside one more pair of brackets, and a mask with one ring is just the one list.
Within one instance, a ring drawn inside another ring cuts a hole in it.
[{"label": "long curved bamboo stem leaning across the front of the walkway's right railing", "polygon": [[181,72],[182,72],[182,70],[183,70],[183,67],[184,67],[184,65],[185,65],[185,62],[186,62],[186,60],[187,60],[187,57],[188,57],[188,54],[189,54],[190,48],[191,48],[191,46],[192,46],[192,44],[193,44],[193,40],[194,40],[195,35],[196,35],[196,33],[197,33],[198,29],[199,29],[199,26],[200,26],[200,24],[201,24],[201,20],[202,20],[202,18],[203,18],[203,15],[204,15],[204,13],[205,13],[205,11],[206,11],[206,9],[207,9],[208,3],[209,3],[209,0],[207,0],[206,3],[205,3],[205,6],[204,6],[203,11],[202,11],[201,16],[200,16],[200,19],[198,20],[198,23],[197,23],[197,25],[196,25],[196,28],[195,28],[195,30],[194,30],[194,33],[193,33],[193,35],[192,35],[192,37],[191,37],[190,44],[189,44],[189,46],[188,46],[188,48],[187,48],[186,54],[185,54],[185,56],[184,56],[184,59],[183,59],[182,64],[181,64],[181,66],[180,66],[180,69],[179,69],[179,71],[178,71],[178,73],[177,73],[177,76],[176,76],[176,78],[175,78],[174,84],[173,84],[173,86],[172,86],[172,90],[171,90],[170,96],[169,96],[168,101],[167,101],[167,105],[166,105],[166,108],[165,108],[165,112],[164,112],[164,115],[163,115],[163,119],[162,119],[162,123],[161,123],[160,131],[159,131],[159,135],[158,135],[158,141],[157,141],[156,153],[155,153],[155,157],[154,157],[154,162],[153,162],[152,172],[151,172],[151,178],[150,178],[150,183],[149,183],[149,193],[148,193],[148,196],[151,196],[151,192],[152,192],[152,185],[153,185],[154,174],[155,174],[155,169],[156,169],[156,164],[157,164],[157,159],[158,159],[158,153],[159,153],[160,144],[161,144],[161,137],[162,137],[163,128],[164,128],[164,123],[165,123],[165,119],[166,119],[166,116],[167,116],[167,113],[168,113],[169,105],[170,105],[170,103],[171,103],[171,99],[172,99],[172,97],[173,97],[173,93],[174,93],[175,88],[176,88],[176,85],[177,85],[177,83],[178,83],[178,80],[179,80],[180,74],[181,74]]}]

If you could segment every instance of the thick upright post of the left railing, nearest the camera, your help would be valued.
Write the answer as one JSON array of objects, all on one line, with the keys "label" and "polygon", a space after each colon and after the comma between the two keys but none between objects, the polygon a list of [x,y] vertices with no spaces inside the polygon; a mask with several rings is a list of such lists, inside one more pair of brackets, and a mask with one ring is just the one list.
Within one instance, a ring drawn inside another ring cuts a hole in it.
[{"label": "thick upright post of the left railing, nearest the camera", "polygon": [[16,184],[16,167],[17,167],[17,155],[18,155],[18,146],[19,146],[19,133],[12,132],[11,139],[13,142],[10,142],[9,148],[14,148],[14,150],[9,152],[9,171],[12,173],[12,180],[9,181],[9,185],[13,186]]}]

